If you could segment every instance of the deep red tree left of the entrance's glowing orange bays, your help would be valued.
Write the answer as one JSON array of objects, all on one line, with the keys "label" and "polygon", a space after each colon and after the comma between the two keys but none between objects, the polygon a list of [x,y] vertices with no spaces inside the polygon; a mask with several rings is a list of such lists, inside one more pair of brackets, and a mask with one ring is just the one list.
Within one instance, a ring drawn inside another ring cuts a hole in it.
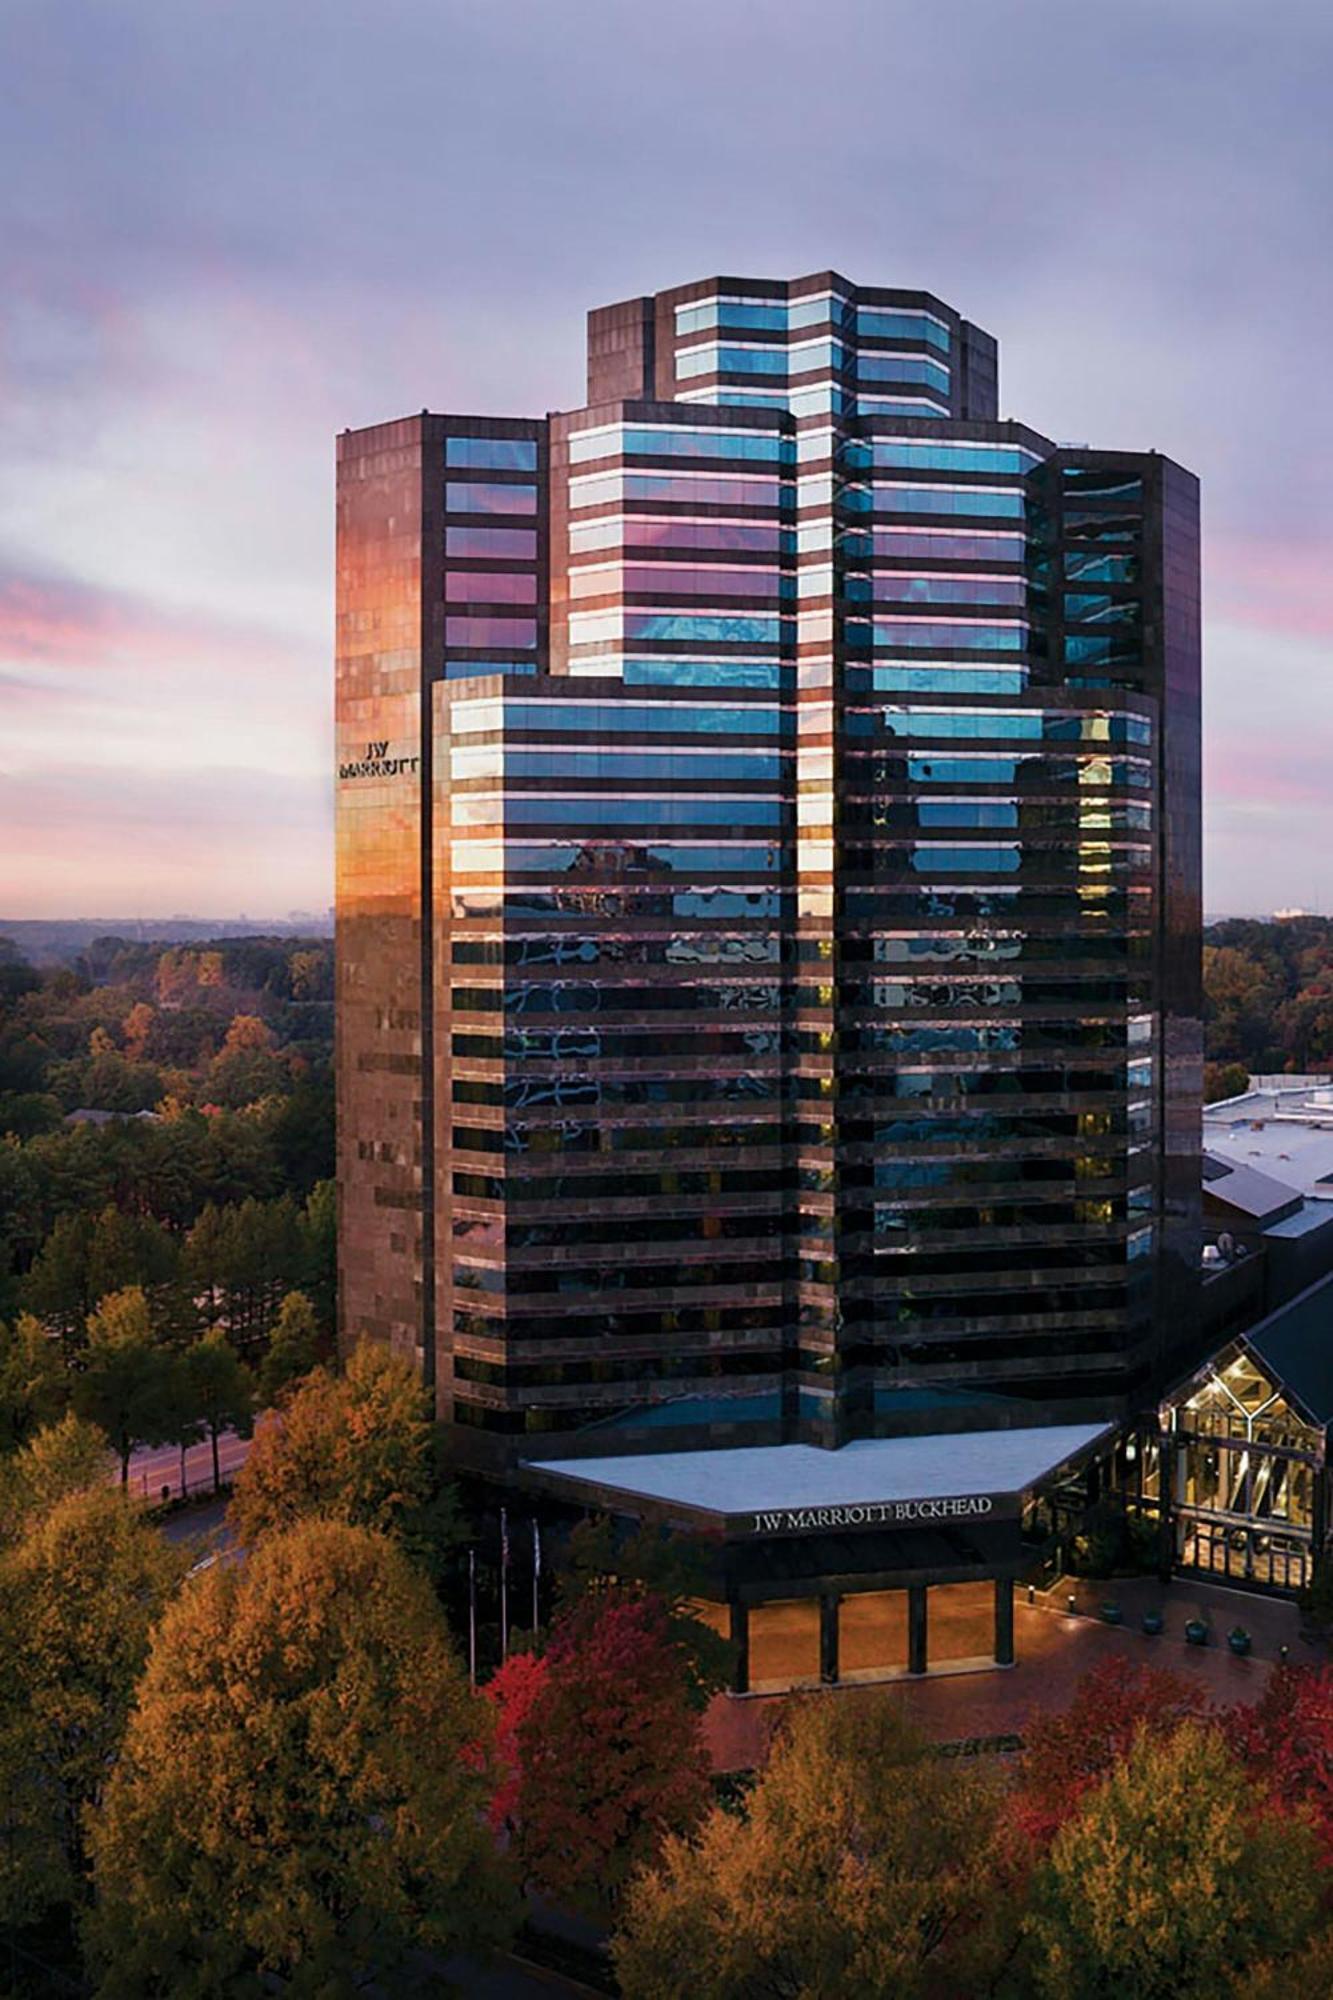
[{"label": "deep red tree left of the entrance's glowing orange bays", "polygon": [[536,1888],[604,1916],[709,1806],[689,1670],[650,1596],[584,1600],[556,1622],[542,1666],[514,1728],[514,1848]]}]

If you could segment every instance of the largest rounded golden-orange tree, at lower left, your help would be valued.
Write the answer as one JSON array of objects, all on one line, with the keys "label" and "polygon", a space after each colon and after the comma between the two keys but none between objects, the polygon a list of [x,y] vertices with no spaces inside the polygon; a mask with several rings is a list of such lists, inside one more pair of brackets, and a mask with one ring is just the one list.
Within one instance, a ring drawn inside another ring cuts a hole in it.
[{"label": "largest rounded golden-orange tree, at lower left", "polygon": [[102,2000],[340,2000],[502,1938],[484,1722],[384,1536],[306,1520],[192,1578],[92,1820]]}]

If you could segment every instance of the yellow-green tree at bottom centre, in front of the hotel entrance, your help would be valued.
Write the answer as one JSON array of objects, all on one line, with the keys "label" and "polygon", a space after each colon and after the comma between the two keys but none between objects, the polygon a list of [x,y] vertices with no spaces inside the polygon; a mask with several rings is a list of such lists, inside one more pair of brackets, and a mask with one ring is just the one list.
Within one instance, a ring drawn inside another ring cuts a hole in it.
[{"label": "yellow-green tree at bottom centre, in front of the hotel entrance", "polygon": [[899,1696],[795,1702],[747,1810],[715,1806],[628,1890],[626,2000],[985,1994],[1013,1948],[997,1792]]}]

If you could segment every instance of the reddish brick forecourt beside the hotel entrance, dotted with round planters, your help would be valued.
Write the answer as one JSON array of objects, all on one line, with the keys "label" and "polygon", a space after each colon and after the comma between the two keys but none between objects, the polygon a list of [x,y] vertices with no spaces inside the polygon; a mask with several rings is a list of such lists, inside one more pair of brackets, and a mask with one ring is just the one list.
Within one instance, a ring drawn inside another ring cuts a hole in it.
[{"label": "reddish brick forecourt beside the hotel entrance, dotted with round planters", "polygon": [[[1067,1612],[1071,1590],[1087,1608],[1075,1616]],[[1103,1624],[1095,1616],[1109,1598],[1121,1604],[1123,1626]],[[1139,1630],[1139,1614],[1147,1608],[1165,1614],[1167,1628],[1157,1638]],[[1195,1614],[1211,1626],[1207,1646],[1185,1644],[1185,1620]],[[1245,1658],[1227,1648],[1233,1624],[1243,1624],[1251,1632],[1253,1652]],[[1187,1680],[1201,1682],[1213,1704],[1229,1706],[1259,1698],[1283,1644],[1293,1664],[1327,1658],[1325,1646],[1301,1640],[1299,1626],[1295,1604],[1209,1582],[1175,1580],[1163,1590],[1153,1578],[1127,1578],[1113,1586],[1067,1580],[1049,1598],[1037,1596],[1033,1604],[1027,1602],[1025,1590],[1017,1592],[1017,1666],[927,1674],[923,1680],[895,1680],[891,1686],[937,1742],[1023,1736],[1033,1714],[1067,1708],[1087,1670],[1111,1656],[1167,1666]],[[865,1700],[867,1692],[843,1686],[829,1690],[825,1698],[857,1702]],[[761,1764],[769,1732],[787,1700],[783,1694],[717,1696],[705,1718],[715,1768],[753,1770]]]}]

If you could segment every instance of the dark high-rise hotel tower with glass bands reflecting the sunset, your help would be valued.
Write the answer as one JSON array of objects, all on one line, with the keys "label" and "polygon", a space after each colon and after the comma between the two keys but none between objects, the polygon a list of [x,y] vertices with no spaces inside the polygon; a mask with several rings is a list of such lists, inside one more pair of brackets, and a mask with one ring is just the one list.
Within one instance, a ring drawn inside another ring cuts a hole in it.
[{"label": "dark high-rise hotel tower with glass bands reflecting the sunset", "polygon": [[478,1466],[1091,1438],[1189,1338],[1197,482],[997,412],[821,272],[338,442],[342,1336]]}]

